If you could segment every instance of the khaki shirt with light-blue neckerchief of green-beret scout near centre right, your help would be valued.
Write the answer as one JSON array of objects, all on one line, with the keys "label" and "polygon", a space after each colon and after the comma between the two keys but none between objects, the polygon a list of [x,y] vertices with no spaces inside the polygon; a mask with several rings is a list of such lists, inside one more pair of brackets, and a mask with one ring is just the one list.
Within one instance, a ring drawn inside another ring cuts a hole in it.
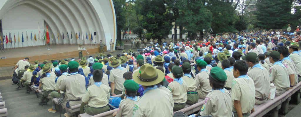
[{"label": "khaki shirt with light-blue neckerchief of green-beret scout near centre right", "polygon": [[205,96],[212,90],[212,87],[209,83],[209,71],[206,69],[202,69],[197,76],[195,77],[197,81],[197,94],[199,98],[205,98]]}]

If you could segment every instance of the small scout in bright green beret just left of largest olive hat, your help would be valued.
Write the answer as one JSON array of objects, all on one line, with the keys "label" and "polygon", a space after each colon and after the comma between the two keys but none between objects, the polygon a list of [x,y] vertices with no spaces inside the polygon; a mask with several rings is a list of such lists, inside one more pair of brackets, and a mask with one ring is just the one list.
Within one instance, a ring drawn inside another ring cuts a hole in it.
[{"label": "small scout in bright green beret just left of largest olive hat", "polygon": [[134,80],[125,80],[123,83],[126,98],[120,101],[118,112],[113,113],[116,117],[132,117],[133,107],[140,99],[137,96],[139,85]]}]

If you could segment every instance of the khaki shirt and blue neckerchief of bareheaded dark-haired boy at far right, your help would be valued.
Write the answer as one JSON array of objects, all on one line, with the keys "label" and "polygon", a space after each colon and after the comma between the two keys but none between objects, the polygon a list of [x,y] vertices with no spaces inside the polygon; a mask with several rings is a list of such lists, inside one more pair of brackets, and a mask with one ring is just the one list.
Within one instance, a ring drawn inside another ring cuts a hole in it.
[{"label": "khaki shirt and blue neckerchief of bareheaded dark-haired boy at far right", "polygon": [[284,57],[281,60],[281,62],[285,67],[287,67],[288,75],[295,74],[295,84],[297,84],[298,83],[298,74],[296,73],[296,66],[295,66],[294,62],[290,59],[290,57]]}]

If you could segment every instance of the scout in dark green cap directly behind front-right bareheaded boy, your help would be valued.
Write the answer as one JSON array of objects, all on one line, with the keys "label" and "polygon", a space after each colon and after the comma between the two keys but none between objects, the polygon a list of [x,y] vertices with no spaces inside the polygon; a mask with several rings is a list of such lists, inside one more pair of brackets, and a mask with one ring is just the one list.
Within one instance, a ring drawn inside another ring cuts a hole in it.
[{"label": "scout in dark green cap directly behind front-right bareheaded boy", "polygon": [[255,104],[259,105],[267,101],[270,93],[270,77],[268,70],[259,64],[258,56],[254,52],[249,52],[246,55],[247,64],[250,70],[247,75],[253,79],[255,85]]}]

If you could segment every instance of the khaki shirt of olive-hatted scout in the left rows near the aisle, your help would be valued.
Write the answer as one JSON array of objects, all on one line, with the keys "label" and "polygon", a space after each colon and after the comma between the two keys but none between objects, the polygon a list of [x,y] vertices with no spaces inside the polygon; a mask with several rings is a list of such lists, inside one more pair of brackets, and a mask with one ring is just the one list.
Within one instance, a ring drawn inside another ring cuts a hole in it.
[{"label": "khaki shirt of olive-hatted scout in the left rows near the aisle", "polygon": [[51,91],[55,89],[55,79],[57,76],[54,72],[50,72],[49,77],[44,77],[40,79],[40,82],[43,84],[43,90],[44,91]]}]

